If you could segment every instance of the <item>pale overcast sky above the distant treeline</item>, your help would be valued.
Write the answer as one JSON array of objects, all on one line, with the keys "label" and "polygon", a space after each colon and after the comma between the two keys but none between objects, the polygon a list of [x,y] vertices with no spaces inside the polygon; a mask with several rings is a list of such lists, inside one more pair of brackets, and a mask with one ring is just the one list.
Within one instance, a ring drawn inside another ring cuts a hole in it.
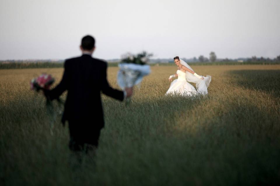
[{"label": "pale overcast sky above the distant treeline", "polygon": [[280,0],[0,0],[0,60],[65,59],[146,50],[154,58],[280,55]]}]

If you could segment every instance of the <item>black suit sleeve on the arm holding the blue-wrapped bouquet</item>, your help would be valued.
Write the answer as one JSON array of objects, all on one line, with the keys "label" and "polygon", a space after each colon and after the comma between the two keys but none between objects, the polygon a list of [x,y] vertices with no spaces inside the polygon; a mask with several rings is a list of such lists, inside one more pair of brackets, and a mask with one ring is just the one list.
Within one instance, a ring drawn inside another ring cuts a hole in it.
[{"label": "black suit sleeve on the arm holding the blue-wrapped bouquet", "polygon": [[101,71],[101,91],[103,94],[106,94],[107,96],[110,96],[114,99],[118,99],[120,101],[123,101],[124,99],[124,92],[113,89],[108,81],[107,81],[107,63],[105,63],[104,68]]}]

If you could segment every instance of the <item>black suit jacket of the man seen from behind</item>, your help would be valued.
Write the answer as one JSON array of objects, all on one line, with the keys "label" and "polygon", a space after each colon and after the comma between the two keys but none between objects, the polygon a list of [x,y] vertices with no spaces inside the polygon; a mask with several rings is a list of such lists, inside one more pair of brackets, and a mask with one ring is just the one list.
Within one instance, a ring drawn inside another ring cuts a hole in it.
[{"label": "black suit jacket of the man seen from behind", "polygon": [[64,62],[61,82],[53,90],[45,91],[45,95],[53,100],[68,90],[62,116],[63,124],[68,120],[69,124],[75,124],[73,130],[83,129],[80,131],[83,134],[90,132],[88,130],[104,127],[100,93],[120,101],[124,99],[122,91],[115,90],[108,84],[106,71],[106,62],[87,54]]}]

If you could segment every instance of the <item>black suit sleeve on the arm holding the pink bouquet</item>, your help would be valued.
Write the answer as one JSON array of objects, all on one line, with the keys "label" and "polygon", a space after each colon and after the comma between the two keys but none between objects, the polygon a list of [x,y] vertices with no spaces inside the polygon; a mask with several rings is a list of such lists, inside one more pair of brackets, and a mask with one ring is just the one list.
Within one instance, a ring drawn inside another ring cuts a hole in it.
[{"label": "black suit sleeve on the arm holding the pink bouquet", "polygon": [[52,90],[44,90],[44,94],[50,98],[50,100],[57,99],[59,96],[65,91],[68,90],[68,82],[69,82],[69,68],[68,62],[64,62],[64,72],[62,76],[62,80],[60,83]]}]

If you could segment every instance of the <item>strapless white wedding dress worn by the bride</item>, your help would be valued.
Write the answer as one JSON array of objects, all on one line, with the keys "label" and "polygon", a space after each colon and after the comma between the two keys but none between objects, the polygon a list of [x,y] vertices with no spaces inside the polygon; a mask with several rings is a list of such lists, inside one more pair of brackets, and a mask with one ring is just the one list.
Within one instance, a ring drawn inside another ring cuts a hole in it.
[{"label": "strapless white wedding dress worn by the bride", "polygon": [[178,79],[171,82],[171,85],[165,95],[180,94],[182,96],[193,96],[197,94],[195,87],[186,81],[185,72],[177,70],[176,74],[178,74]]}]

